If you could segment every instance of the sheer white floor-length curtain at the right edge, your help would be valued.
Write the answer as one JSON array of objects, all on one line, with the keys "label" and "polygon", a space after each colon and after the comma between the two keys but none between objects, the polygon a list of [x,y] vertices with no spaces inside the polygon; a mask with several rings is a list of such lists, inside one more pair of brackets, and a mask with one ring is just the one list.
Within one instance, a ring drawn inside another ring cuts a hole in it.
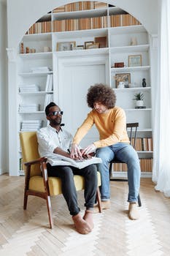
[{"label": "sheer white floor-length curtain at the right edge", "polygon": [[158,90],[155,97],[155,153],[152,181],[170,197],[170,1],[161,0]]}]

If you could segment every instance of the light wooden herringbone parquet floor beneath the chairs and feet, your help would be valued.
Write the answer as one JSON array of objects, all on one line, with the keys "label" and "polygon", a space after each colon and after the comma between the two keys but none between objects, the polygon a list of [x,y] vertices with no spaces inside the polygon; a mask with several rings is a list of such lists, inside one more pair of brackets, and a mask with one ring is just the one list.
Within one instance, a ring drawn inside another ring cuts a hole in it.
[{"label": "light wooden herringbone parquet floor beneath the chairs and feet", "polygon": [[[95,228],[84,236],[74,230],[62,195],[52,198],[53,230],[45,200],[30,197],[23,211],[23,183],[24,177],[0,176],[1,256],[170,255],[170,198],[155,192],[150,178],[141,180],[141,219],[127,217],[127,183],[112,181],[112,208],[94,214]],[[83,210],[83,192],[78,196]]]}]

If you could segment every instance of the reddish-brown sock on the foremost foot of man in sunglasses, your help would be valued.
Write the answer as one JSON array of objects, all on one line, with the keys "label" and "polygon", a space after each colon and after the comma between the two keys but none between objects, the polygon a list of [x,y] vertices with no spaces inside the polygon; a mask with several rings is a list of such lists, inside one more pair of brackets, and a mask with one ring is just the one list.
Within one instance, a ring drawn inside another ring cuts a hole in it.
[{"label": "reddish-brown sock on the foremost foot of man in sunglasses", "polygon": [[86,235],[91,232],[90,225],[84,219],[82,219],[80,213],[72,217],[75,228],[78,233]]}]

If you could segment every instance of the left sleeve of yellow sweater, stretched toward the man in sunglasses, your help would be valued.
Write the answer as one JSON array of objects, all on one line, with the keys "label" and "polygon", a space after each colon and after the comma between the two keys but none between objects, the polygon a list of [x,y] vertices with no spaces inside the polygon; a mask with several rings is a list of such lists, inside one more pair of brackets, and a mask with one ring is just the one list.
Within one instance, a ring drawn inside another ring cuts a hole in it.
[{"label": "left sleeve of yellow sweater, stretched toward the man in sunglasses", "polygon": [[73,138],[73,143],[79,144],[82,138],[85,137],[85,135],[88,133],[91,127],[93,127],[94,124],[94,118],[93,118],[93,112],[91,111],[88,113],[87,118],[85,121],[83,121],[82,125],[77,129],[76,134]]}]

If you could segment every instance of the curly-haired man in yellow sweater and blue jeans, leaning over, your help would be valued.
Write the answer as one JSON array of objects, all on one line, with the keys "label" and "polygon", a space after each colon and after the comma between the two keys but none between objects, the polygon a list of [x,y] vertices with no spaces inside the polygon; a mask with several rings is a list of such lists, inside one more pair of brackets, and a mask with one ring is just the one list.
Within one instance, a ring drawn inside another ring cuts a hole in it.
[{"label": "curly-haired man in yellow sweater and blue jeans, leaning over", "polygon": [[[125,111],[115,106],[115,92],[102,83],[90,86],[87,102],[92,110],[74,135],[71,157],[81,158],[83,154],[96,151],[96,157],[102,159],[102,163],[98,164],[98,171],[101,173],[100,191],[103,209],[110,207],[109,162],[115,157],[125,162],[128,166],[128,217],[139,219],[137,201],[141,171],[139,157],[129,143]],[[98,129],[100,139],[80,152],[78,145],[93,124]]]}]

